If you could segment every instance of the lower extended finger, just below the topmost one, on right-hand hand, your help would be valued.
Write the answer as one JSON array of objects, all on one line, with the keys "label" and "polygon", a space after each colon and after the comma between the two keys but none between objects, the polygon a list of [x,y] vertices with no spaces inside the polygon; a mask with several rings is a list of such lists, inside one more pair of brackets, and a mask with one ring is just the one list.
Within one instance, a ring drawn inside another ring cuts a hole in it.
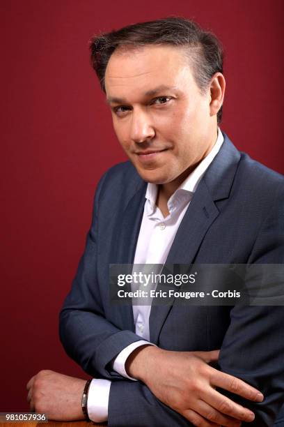
[{"label": "lower extended finger, just below the topmost one, on right-hand hand", "polygon": [[221,412],[221,414],[229,415],[230,417],[238,419],[239,421],[246,421],[250,423],[255,418],[255,415],[253,412],[251,412],[251,410],[248,410],[246,407],[233,402],[214,389],[210,389],[210,391],[204,391],[202,399],[207,404],[214,407],[215,410]]}]

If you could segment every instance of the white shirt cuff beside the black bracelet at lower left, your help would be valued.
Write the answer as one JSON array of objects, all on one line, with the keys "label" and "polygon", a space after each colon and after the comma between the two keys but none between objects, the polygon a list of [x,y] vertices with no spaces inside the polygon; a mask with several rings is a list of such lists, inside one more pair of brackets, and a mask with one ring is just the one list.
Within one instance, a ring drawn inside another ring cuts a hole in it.
[{"label": "white shirt cuff beside the black bracelet at lower left", "polygon": [[109,409],[109,391],[111,381],[92,380],[88,389],[88,417],[95,423],[107,421]]}]

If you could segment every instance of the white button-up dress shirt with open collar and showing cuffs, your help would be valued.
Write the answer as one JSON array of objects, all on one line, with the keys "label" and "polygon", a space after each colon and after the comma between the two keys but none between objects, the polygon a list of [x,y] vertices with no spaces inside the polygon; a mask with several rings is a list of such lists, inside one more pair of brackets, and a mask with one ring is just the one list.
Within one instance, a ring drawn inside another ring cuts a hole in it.
[{"label": "white button-up dress shirt with open collar and showing cuffs", "polygon": [[[166,218],[164,218],[160,209],[156,206],[157,185],[148,183],[134,264],[164,264],[166,262],[166,258],[173,244],[173,239],[175,239],[175,234],[178,231],[184,213],[189,207],[189,203],[196,191],[198,183],[222,144],[223,135],[218,128],[218,137],[210,153],[207,154],[196,169],[189,174],[187,179],[185,179],[181,186],[175,190],[175,193],[169,198],[169,214]],[[128,345],[118,354],[113,362],[113,370],[116,370],[117,373],[131,380],[134,380],[134,378],[127,375],[125,371],[125,362],[129,354],[137,347],[150,344],[150,310],[150,305],[133,306],[135,333],[143,339]],[[109,380],[94,379],[90,383],[88,391],[88,415],[92,421],[97,423],[107,421],[110,388],[111,381]]]}]

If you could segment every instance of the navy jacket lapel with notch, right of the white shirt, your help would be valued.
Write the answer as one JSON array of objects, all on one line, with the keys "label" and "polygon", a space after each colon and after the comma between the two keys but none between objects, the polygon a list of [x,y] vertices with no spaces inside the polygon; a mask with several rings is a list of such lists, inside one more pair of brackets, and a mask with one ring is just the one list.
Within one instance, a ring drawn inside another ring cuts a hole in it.
[{"label": "navy jacket lapel with notch, right of the white shirt", "polygon": [[[187,212],[182,219],[168,253],[166,264],[192,264],[207,230],[219,216],[215,202],[229,197],[232,181],[239,163],[239,152],[226,135],[225,140],[201,179]],[[173,285],[174,287],[174,285]],[[170,289],[170,288],[169,288]],[[157,287],[159,290],[159,285]],[[150,312],[150,341],[158,343],[161,327],[173,306],[174,298],[166,306],[152,306]]]}]

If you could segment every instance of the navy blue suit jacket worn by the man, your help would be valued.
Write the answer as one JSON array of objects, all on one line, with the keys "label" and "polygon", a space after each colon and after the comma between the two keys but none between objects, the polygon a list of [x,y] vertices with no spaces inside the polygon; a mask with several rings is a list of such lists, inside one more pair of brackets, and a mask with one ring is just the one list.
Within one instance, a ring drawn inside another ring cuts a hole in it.
[{"label": "navy blue suit jacket worn by the man", "polygon": [[[167,263],[283,263],[284,178],[237,151],[224,136]],[[110,368],[123,348],[141,339],[134,333],[132,307],[109,301],[109,264],[134,260],[146,186],[129,162],[102,177],[86,249],[61,310],[60,336],[86,373],[112,380],[109,426],[189,426],[145,384]],[[255,412],[255,421],[243,426],[273,426],[284,402],[283,324],[282,306],[153,306],[150,341],[167,350],[221,348],[219,368],[265,394],[262,403],[232,396]],[[284,425],[284,416],[278,419]]]}]

